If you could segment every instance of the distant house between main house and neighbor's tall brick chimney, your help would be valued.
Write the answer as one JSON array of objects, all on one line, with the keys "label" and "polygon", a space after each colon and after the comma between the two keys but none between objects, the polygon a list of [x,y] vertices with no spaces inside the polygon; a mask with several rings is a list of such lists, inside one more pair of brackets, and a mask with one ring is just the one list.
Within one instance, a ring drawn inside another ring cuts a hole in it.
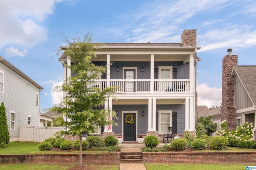
[{"label": "distant house between main house and neighbor's tall brick chimney", "polygon": [[209,110],[207,106],[197,106],[198,117],[212,116],[210,119],[212,123],[217,123],[218,129],[220,129],[220,107]]}]

